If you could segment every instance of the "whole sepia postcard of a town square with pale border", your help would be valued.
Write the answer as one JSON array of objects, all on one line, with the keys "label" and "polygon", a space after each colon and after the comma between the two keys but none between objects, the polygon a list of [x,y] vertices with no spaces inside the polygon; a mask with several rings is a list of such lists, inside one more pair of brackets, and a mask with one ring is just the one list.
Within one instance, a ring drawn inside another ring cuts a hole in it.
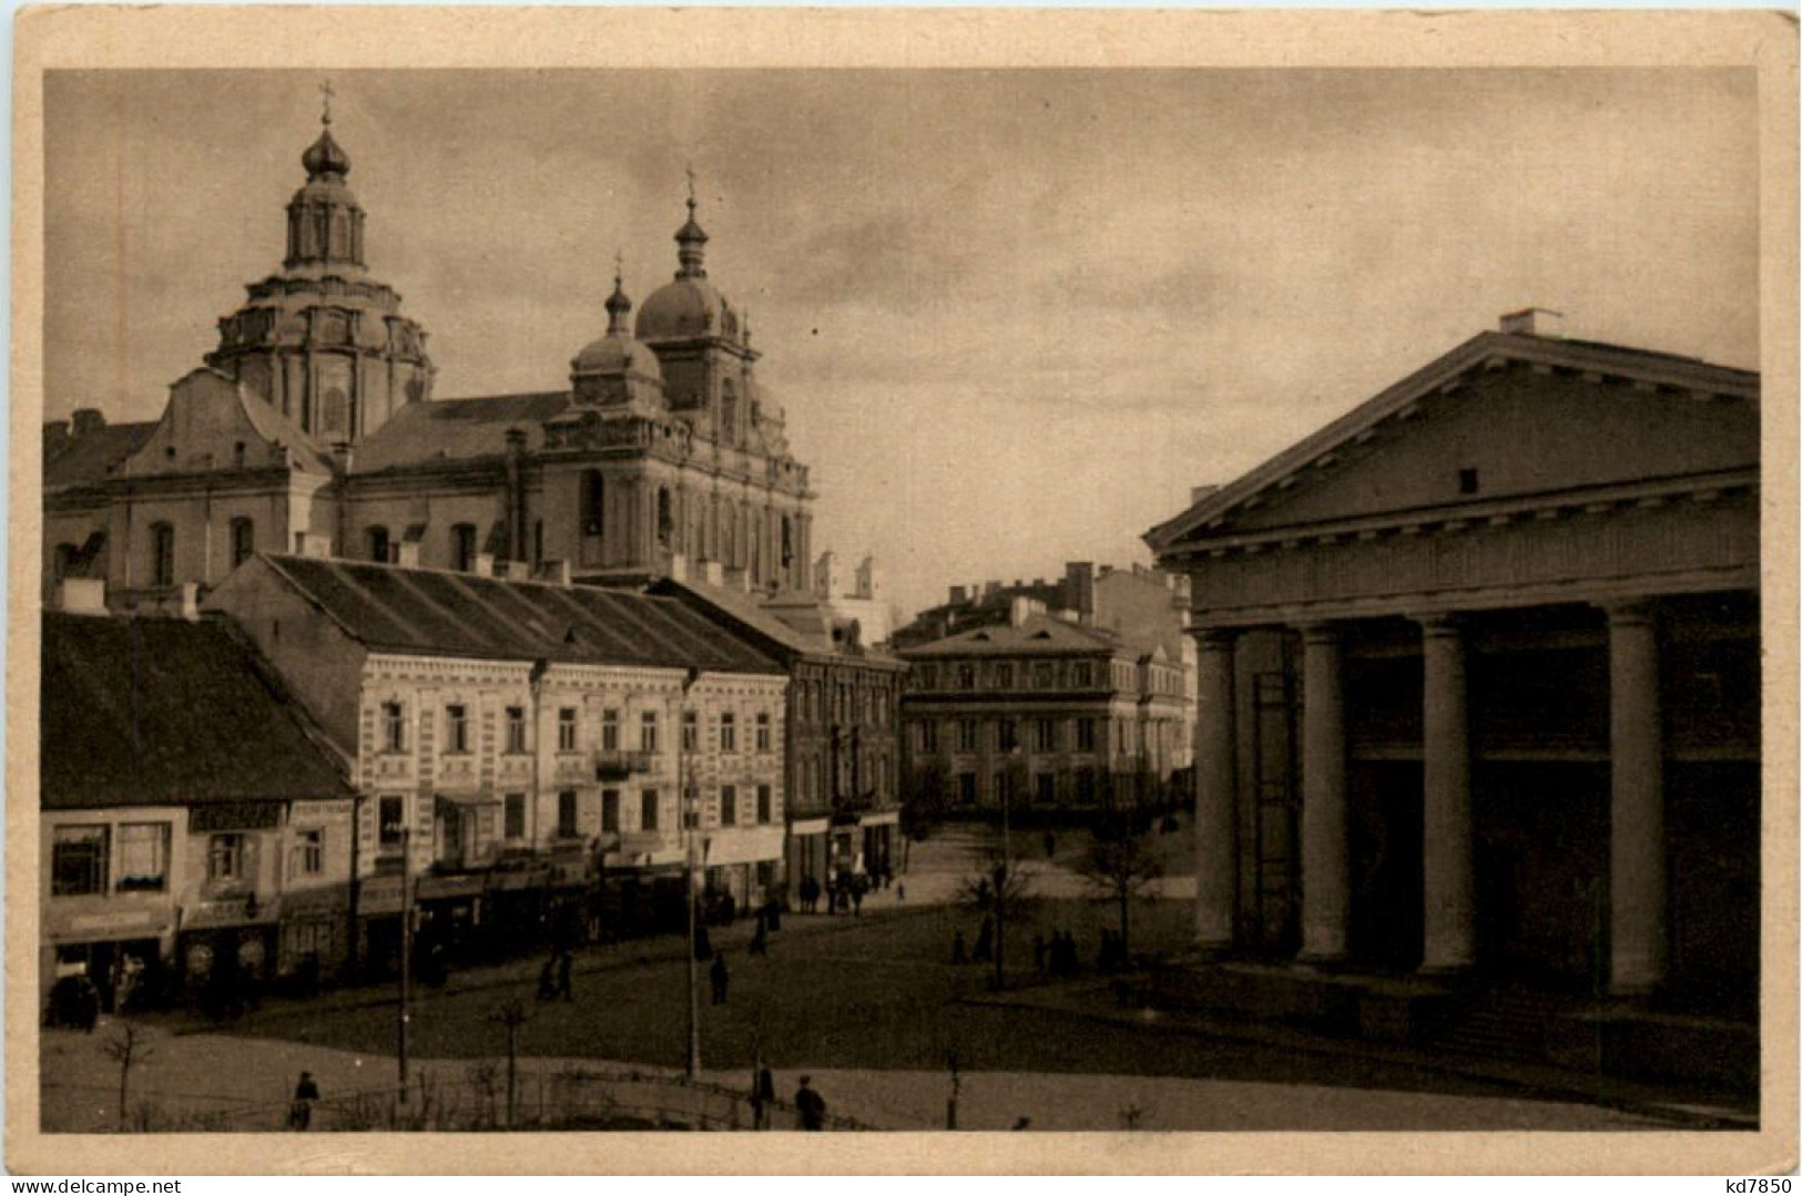
[{"label": "whole sepia postcard of a town square with pale border", "polygon": [[1793,1153],[1768,61],[593,45],[22,70],[14,1144]]}]

